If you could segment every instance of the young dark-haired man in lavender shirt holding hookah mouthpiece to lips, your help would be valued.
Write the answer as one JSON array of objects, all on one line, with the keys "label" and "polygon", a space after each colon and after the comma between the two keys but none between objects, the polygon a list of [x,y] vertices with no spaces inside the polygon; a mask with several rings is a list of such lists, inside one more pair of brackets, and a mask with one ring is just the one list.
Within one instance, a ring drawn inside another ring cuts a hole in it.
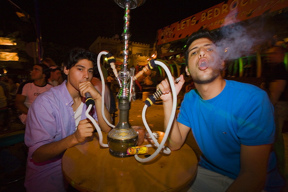
[{"label": "young dark-haired man in lavender shirt holding hookah mouthpiece to lips", "polygon": [[[39,95],[29,108],[25,130],[25,144],[29,147],[25,187],[27,191],[65,191],[61,170],[66,149],[92,136],[94,126],[85,116],[85,93],[95,100],[91,116],[100,128],[111,128],[101,114],[101,95],[91,84],[96,56],[84,49],[73,49],[65,57],[61,85]],[[105,116],[111,116],[104,107]]]}]

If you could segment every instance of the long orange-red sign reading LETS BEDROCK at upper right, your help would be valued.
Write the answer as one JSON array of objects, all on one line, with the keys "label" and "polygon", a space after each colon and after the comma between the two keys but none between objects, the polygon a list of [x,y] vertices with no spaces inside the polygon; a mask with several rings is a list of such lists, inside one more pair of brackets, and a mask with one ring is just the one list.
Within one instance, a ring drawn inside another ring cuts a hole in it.
[{"label": "long orange-red sign reading LETS BEDROCK at upper right", "polygon": [[200,28],[213,30],[285,7],[288,0],[228,0],[159,29],[157,45],[189,37]]}]

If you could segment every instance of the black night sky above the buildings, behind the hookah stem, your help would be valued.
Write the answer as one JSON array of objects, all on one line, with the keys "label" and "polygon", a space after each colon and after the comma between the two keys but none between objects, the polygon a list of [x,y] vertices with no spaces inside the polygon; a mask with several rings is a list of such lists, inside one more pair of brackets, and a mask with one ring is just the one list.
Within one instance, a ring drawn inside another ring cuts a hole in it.
[{"label": "black night sky above the buildings, behind the hookah stem", "polygon": [[[34,0],[11,1],[35,18]],[[43,42],[88,49],[98,36],[119,34],[122,38],[124,9],[113,0],[37,1]],[[146,0],[140,7],[130,10],[130,41],[153,46],[158,29],[221,2],[223,0]],[[4,30],[4,36],[20,30],[18,37],[34,41],[33,24],[21,21],[9,1],[1,0],[0,7],[3,9],[0,30]]]}]

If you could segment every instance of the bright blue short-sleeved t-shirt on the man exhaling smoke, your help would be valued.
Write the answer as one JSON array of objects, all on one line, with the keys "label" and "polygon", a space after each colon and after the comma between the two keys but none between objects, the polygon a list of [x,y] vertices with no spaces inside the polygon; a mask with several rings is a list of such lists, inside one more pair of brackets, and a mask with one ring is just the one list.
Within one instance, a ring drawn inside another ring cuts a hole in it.
[{"label": "bright blue short-sleeved t-shirt on the man exhaling smoke", "polygon": [[[203,100],[196,89],[186,93],[177,121],[192,129],[202,151],[199,165],[235,179],[240,172],[240,145],[274,142],[274,108],[265,91],[236,81],[216,97]],[[270,154],[268,172],[276,167]]]}]

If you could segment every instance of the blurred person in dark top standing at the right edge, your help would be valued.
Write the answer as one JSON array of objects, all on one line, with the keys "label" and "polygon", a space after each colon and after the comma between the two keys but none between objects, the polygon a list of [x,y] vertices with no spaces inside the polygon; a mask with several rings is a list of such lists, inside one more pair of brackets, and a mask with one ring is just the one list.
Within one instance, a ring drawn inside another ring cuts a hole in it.
[{"label": "blurred person in dark top standing at the right edge", "polygon": [[265,69],[267,70],[266,91],[275,110],[276,139],[274,149],[278,160],[278,169],[287,179],[287,173],[285,173],[285,146],[282,135],[283,125],[287,125],[288,122],[288,72],[283,63],[286,52],[287,50],[283,46],[274,46],[268,49],[265,58],[268,66]]}]

